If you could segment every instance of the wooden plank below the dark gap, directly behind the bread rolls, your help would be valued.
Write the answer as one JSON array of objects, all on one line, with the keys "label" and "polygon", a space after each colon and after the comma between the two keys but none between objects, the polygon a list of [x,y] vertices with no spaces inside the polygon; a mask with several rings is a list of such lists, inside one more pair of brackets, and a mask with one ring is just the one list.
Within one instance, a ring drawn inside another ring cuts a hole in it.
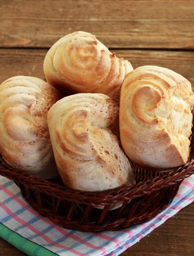
[{"label": "wooden plank below the dark gap, directly behind the bread rolls", "polygon": [[[17,75],[44,78],[46,53],[43,49],[0,49],[0,83]],[[170,68],[190,80],[194,88],[194,52],[117,50],[116,54],[130,60],[134,68],[144,65]]]}]

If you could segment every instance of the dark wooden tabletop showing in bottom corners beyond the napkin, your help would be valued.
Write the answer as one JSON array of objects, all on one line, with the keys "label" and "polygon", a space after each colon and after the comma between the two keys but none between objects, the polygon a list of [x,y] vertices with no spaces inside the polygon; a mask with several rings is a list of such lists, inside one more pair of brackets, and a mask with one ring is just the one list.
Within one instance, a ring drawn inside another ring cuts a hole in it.
[{"label": "dark wooden tabletop showing in bottom corners beyond the napkin", "polygon": [[[194,204],[188,205],[121,256],[192,256],[194,255]],[[0,238],[0,255],[27,255]]]}]

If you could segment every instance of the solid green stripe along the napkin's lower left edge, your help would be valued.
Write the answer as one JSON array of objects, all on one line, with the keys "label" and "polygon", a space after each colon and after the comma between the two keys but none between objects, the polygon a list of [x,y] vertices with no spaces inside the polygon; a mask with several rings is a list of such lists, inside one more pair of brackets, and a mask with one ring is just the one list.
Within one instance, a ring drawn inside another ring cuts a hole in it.
[{"label": "solid green stripe along the napkin's lower left edge", "polygon": [[0,237],[12,244],[14,247],[22,250],[30,256],[55,256],[57,254],[50,252],[40,245],[29,241],[21,235],[13,232],[11,229],[0,223]]}]

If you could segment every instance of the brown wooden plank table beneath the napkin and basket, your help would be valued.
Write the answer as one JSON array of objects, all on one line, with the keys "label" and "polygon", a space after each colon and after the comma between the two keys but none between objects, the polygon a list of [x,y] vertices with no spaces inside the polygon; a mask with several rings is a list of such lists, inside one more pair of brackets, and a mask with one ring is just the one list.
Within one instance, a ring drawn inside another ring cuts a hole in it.
[{"label": "brown wooden plank table beneath the napkin and basket", "polygon": [[[94,33],[135,67],[157,65],[194,85],[194,1],[0,0],[0,83],[44,78],[48,48],[74,31]],[[194,205],[121,255],[194,255]],[[25,255],[0,239],[0,255]]]}]

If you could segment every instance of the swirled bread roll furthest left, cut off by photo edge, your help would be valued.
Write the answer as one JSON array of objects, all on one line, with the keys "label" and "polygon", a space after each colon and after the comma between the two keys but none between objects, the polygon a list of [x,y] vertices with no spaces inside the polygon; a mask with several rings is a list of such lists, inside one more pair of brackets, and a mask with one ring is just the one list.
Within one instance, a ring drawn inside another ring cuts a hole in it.
[{"label": "swirled bread roll furthest left, cut off by photo edge", "polygon": [[13,168],[40,178],[58,175],[47,112],[60,93],[47,82],[16,76],[0,86],[0,153]]}]

